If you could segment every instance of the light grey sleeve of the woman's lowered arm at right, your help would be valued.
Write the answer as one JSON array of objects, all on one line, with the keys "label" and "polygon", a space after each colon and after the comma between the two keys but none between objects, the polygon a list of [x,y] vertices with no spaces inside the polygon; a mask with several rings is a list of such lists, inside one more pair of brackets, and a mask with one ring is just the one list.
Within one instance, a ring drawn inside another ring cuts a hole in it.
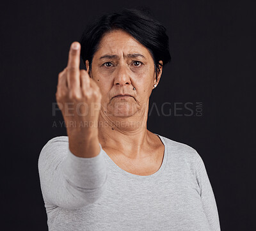
[{"label": "light grey sleeve of the woman's lowered arm at right", "polygon": [[209,227],[212,231],[220,230],[220,220],[214,193],[212,191],[211,183],[205,169],[204,161],[199,156],[199,154],[196,168],[196,181],[198,182],[200,188],[202,206],[205,212],[205,216],[209,222]]}]

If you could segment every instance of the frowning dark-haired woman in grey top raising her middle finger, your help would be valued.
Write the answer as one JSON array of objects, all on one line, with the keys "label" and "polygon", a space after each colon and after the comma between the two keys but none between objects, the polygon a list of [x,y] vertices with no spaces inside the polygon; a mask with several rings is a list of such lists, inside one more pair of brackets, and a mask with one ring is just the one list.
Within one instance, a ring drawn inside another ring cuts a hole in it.
[{"label": "frowning dark-haired woman in grey top raising her middle finger", "polygon": [[49,230],[220,230],[199,154],[147,130],[168,61],[165,28],[140,10],[104,15],[72,43],[56,92],[68,136],[38,160]]}]

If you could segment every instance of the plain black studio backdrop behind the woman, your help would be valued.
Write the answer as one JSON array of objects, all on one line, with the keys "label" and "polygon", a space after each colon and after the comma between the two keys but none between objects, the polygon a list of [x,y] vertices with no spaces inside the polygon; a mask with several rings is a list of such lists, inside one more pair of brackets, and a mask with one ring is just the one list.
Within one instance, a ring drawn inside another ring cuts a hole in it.
[{"label": "plain black studio backdrop behind the woman", "polygon": [[255,7],[203,0],[2,4],[4,230],[47,230],[38,156],[48,140],[66,135],[52,103],[70,44],[102,13],[136,6],[166,27],[172,56],[150,98],[148,129],[198,151],[221,230],[255,230]]}]

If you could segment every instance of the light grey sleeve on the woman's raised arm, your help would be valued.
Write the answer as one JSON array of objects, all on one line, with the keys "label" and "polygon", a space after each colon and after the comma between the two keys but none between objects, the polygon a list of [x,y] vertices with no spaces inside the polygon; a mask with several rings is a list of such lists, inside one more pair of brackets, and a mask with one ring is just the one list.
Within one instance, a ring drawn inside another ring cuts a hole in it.
[{"label": "light grey sleeve on the woman's raised arm", "polygon": [[97,156],[81,158],[70,152],[68,137],[49,140],[38,158],[44,200],[64,209],[95,202],[106,188],[107,167],[102,152],[100,145]]}]

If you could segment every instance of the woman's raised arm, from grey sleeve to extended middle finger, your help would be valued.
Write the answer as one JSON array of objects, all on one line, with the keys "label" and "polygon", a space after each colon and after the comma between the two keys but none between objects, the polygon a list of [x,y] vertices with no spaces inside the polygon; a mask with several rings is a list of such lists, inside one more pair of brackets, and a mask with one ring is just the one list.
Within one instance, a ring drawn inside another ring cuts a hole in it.
[{"label": "woman's raised arm, from grey sleeve to extended middle finger", "polygon": [[95,202],[104,190],[107,174],[97,128],[102,96],[88,71],[79,70],[80,50],[79,43],[72,43],[67,68],[58,75],[56,101],[65,124],[70,125],[68,142],[63,137],[53,138],[38,160],[44,200],[65,209]]}]

